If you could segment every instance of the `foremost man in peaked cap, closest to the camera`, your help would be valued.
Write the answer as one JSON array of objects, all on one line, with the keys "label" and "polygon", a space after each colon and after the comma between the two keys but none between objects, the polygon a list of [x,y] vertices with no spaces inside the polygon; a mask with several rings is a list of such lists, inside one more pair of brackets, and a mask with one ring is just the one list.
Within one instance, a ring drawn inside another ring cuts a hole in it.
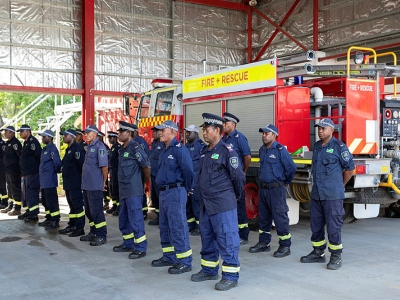
[{"label": "foremost man in peaked cap, closest to the camera", "polygon": [[221,139],[224,119],[209,113],[202,116],[203,137],[208,143],[201,150],[199,169],[202,268],[191,280],[217,280],[221,255],[222,279],[215,289],[226,291],[238,285],[240,237],[236,210],[246,178],[238,154]]}]

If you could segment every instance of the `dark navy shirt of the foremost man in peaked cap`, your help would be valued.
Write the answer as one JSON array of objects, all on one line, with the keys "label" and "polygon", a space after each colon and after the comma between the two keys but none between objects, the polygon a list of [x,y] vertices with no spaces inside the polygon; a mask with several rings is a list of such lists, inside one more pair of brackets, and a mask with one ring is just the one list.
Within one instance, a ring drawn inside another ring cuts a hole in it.
[{"label": "dark navy shirt of the foremost man in peaked cap", "polygon": [[201,205],[209,215],[237,208],[246,183],[246,175],[238,154],[220,141],[214,148],[204,146],[201,150],[199,187]]}]

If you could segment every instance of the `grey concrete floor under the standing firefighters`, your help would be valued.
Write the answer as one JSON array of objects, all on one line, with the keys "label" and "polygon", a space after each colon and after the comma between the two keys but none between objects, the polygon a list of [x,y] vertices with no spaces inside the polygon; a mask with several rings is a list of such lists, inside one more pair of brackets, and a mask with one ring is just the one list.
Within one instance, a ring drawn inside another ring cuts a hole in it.
[{"label": "grey concrete floor under the standing firefighters", "polygon": [[[68,212],[63,198],[61,208],[63,228]],[[217,281],[190,281],[200,270],[200,237],[191,237],[193,271],[170,275],[167,268],[150,266],[161,256],[158,227],[146,225],[147,256],[134,261],[112,252],[121,243],[117,217],[107,216],[108,244],[91,247],[0,215],[0,299],[400,299],[400,219],[346,224],[338,271],[299,262],[312,250],[307,217],[291,226],[292,254],[286,258],[272,257],[275,232],[270,253],[250,254],[249,246],[258,241],[258,233],[251,232],[240,252],[239,286],[219,292]]]}]

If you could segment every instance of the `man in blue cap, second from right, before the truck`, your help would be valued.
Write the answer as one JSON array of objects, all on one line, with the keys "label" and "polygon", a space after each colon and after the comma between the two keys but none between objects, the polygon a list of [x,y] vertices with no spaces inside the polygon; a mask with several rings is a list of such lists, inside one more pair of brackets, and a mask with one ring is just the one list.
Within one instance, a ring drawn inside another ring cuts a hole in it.
[{"label": "man in blue cap, second from right, before the truck", "polygon": [[250,253],[269,252],[272,221],[279,237],[279,248],[274,257],[290,255],[289,207],[286,203],[286,187],[296,174],[296,164],[284,146],[276,141],[278,129],[271,124],[258,130],[262,133],[263,146],[259,150],[258,178],[259,242],[250,247]]}]

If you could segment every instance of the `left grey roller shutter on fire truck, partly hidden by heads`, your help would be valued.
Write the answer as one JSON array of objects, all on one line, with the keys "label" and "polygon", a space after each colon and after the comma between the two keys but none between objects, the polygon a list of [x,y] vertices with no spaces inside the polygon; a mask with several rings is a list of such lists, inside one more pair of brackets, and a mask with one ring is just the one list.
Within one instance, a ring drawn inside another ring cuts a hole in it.
[{"label": "left grey roller shutter on fire truck, partly hidden by heads", "polygon": [[[200,126],[204,123],[203,118],[201,117],[202,113],[212,113],[218,116],[221,115],[221,101],[213,101],[213,102],[205,102],[205,103],[196,103],[196,104],[188,104],[185,106],[185,127],[194,124]],[[199,137],[202,138],[202,135],[199,134]]]}]

